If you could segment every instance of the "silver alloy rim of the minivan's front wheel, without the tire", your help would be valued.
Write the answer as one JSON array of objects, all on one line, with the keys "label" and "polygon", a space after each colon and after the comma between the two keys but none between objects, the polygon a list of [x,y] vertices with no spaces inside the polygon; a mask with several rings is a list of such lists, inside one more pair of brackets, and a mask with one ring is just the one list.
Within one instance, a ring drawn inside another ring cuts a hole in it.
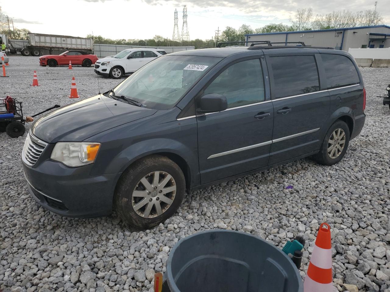
[{"label": "silver alloy rim of the minivan's front wheel, without the tire", "polygon": [[165,171],[154,171],[144,176],[135,186],[131,205],[144,218],[162,215],[172,205],[176,183]]}]

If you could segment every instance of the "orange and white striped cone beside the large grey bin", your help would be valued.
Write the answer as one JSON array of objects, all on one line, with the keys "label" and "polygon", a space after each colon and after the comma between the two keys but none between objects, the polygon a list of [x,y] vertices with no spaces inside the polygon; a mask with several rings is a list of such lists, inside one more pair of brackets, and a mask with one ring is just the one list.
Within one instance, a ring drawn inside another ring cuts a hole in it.
[{"label": "orange and white striped cone beside the large grey bin", "polygon": [[328,223],[322,223],[318,230],[316,245],[314,245],[305,282],[303,283],[303,292],[332,292],[332,281],[330,226]]}]

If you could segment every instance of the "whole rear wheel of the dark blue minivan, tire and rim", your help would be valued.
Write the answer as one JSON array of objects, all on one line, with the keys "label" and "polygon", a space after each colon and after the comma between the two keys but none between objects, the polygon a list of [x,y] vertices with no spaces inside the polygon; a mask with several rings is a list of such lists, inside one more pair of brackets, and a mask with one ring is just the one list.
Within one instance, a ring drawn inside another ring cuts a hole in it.
[{"label": "whole rear wheel of the dark blue minivan, tire and rim", "polygon": [[314,155],[319,164],[333,165],[344,157],[349,145],[349,128],[341,120],[335,121],[326,132],[320,151]]}]

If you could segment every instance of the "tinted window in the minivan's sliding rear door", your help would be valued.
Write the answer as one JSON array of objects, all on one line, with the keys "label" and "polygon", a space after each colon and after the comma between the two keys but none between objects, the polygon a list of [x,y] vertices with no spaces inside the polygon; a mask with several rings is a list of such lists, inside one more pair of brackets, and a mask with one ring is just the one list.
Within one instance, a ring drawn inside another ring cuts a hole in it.
[{"label": "tinted window in the minivan's sliding rear door", "polygon": [[273,71],[273,99],[319,91],[314,56],[278,56],[268,60]]}]

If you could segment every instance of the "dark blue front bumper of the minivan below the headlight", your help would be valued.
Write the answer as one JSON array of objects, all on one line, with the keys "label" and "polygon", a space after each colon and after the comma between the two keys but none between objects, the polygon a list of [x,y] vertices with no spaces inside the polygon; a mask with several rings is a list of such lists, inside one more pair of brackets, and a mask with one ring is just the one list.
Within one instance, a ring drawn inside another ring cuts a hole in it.
[{"label": "dark blue front bumper of the minivan below the headlight", "polygon": [[70,168],[52,160],[39,162],[41,158],[37,166],[23,163],[28,190],[38,204],[67,217],[89,218],[112,212],[120,174],[90,176],[93,164]]}]

